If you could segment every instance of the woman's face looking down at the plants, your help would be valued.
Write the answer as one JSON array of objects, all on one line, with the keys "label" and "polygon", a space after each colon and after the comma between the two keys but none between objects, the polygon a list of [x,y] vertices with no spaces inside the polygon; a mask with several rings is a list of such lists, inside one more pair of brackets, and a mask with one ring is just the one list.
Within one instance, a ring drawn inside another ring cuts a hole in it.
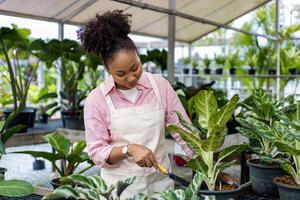
[{"label": "woman's face looking down at the plants", "polygon": [[142,64],[135,51],[119,51],[107,63],[117,88],[128,90],[134,88],[142,74]]}]

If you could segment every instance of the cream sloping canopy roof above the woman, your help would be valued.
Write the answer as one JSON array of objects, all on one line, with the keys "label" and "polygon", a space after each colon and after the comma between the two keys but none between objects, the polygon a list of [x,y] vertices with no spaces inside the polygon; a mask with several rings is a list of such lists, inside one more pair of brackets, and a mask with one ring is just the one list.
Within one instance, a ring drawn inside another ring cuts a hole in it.
[{"label": "cream sloping canopy roof above the woman", "polygon": [[[216,24],[228,24],[269,1],[177,0],[176,13],[179,15],[176,15],[175,39],[189,43],[196,41],[216,30]],[[133,2],[141,6],[137,7]],[[168,4],[169,0],[0,0],[0,14],[80,25],[96,13],[123,9],[133,15],[133,33],[167,38]],[[146,5],[158,8],[161,12]],[[205,21],[215,24],[210,25]]]}]

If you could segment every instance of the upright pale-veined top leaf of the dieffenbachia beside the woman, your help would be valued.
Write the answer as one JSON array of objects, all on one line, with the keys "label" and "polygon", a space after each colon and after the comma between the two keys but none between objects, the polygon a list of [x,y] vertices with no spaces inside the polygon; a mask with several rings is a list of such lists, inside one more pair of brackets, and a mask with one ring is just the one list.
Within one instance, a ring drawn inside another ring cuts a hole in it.
[{"label": "upright pale-veined top leaf of the dieffenbachia beside the woman", "polygon": [[199,124],[208,129],[209,119],[217,112],[218,105],[213,91],[202,90],[194,99],[194,106],[199,116]]}]

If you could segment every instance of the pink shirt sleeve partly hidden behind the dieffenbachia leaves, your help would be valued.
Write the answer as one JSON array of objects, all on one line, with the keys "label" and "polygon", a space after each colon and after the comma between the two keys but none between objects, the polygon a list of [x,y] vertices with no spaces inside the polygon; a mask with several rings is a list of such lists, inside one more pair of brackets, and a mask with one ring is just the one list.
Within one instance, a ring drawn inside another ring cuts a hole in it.
[{"label": "pink shirt sleeve partly hidden behind the dieffenbachia leaves", "polygon": [[[176,92],[174,91],[174,89],[172,88],[169,82],[167,82],[166,95],[167,95],[166,119],[165,119],[166,123],[180,125],[179,119],[173,111],[180,112],[183,115],[184,119],[190,122],[190,119],[187,116]],[[193,150],[189,148],[187,143],[180,137],[180,135],[178,133],[171,133],[171,135],[175,139],[177,144],[181,146],[182,150],[189,156],[189,158],[192,158],[194,155]]]}]

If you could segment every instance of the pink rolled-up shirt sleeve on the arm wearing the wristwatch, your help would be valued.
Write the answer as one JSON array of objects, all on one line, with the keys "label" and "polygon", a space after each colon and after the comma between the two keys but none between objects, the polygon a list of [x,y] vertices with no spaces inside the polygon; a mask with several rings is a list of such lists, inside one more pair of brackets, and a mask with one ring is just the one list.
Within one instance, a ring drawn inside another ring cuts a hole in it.
[{"label": "pink rolled-up shirt sleeve on the arm wearing the wristwatch", "polygon": [[117,167],[110,165],[107,160],[113,149],[111,139],[99,106],[88,98],[84,105],[84,125],[88,155],[94,163],[102,168]]}]

